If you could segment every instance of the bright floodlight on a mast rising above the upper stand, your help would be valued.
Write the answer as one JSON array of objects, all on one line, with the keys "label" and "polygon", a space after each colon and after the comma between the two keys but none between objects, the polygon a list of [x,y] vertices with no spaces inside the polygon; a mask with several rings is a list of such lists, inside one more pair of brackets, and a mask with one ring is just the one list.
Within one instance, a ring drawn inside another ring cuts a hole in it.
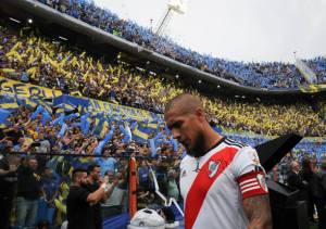
[{"label": "bright floodlight on a mast rising above the upper stand", "polygon": [[167,3],[167,9],[159,23],[156,35],[162,35],[171,22],[174,14],[184,14],[186,12],[186,1],[187,0],[170,0]]}]

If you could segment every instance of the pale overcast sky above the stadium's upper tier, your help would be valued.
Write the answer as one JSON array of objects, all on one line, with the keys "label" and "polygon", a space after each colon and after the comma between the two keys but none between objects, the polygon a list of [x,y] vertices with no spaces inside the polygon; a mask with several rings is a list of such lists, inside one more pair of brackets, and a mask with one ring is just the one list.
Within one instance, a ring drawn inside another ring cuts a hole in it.
[{"label": "pale overcast sky above the stadium's upper tier", "polygon": [[[95,0],[122,18],[153,27],[168,0]],[[152,23],[151,23],[152,20]],[[234,61],[293,62],[326,55],[326,0],[188,0],[165,35],[184,47]]]}]

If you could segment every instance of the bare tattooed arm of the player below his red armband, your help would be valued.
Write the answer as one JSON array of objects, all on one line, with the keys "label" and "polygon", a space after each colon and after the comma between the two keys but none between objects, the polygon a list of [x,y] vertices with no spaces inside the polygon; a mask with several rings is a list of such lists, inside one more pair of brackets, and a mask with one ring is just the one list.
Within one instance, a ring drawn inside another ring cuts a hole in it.
[{"label": "bare tattooed arm of the player below his red armband", "polygon": [[267,194],[244,199],[243,208],[249,219],[248,229],[272,229],[272,213]]}]

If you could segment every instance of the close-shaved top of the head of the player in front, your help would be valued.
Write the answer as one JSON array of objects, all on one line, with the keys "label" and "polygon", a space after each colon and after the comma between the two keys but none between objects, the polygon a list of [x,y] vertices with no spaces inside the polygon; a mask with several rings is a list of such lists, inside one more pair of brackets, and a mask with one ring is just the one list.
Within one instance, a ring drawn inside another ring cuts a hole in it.
[{"label": "close-shaved top of the head of the player in front", "polygon": [[165,106],[165,113],[167,113],[171,109],[175,107],[177,107],[180,114],[195,113],[196,110],[199,107],[203,110],[199,98],[190,93],[181,93],[168,101],[168,103]]}]

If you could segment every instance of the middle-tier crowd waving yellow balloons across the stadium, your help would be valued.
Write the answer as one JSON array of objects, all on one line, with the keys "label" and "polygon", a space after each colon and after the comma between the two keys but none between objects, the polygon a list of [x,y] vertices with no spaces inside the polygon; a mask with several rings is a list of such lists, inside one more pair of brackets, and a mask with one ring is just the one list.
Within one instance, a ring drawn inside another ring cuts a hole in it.
[{"label": "middle-tier crowd waving yellow balloons across the stadium", "polygon": [[[156,113],[162,113],[166,101],[178,93],[199,94],[180,81],[168,81],[129,64],[109,64],[104,58],[55,40],[18,35],[3,26],[0,33],[0,73],[11,79]],[[212,122],[224,128],[262,135],[325,136],[325,119],[304,103],[277,105],[200,97]]]}]

